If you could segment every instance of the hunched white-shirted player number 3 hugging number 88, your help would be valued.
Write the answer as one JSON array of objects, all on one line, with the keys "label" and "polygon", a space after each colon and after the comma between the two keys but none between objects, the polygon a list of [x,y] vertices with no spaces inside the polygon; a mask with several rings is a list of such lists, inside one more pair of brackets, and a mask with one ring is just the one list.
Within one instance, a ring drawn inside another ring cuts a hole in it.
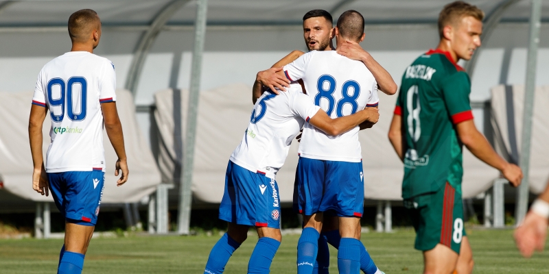
[{"label": "hunched white-shirted player number 3 hugging number 88", "polygon": [[250,226],[259,241],[250,257],[248,273],[269,273],[280,245],[280,197],[275,177],[288,156],[292,140],[304,123],[330,136],[352,130],[364,121],[376,123],[377,108],[331,119],[292,83],[287,92],[265,92],[255,103],[248,128],[227,166],[220,219],[229,229],[210,252],[204,273],[223,273],[226,263],[246,240]]}]

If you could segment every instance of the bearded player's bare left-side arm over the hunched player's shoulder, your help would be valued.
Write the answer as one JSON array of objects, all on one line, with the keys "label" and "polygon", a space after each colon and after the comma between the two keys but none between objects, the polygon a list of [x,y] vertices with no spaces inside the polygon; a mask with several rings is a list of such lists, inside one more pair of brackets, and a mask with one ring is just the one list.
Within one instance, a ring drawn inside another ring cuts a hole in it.
[{"label": "bearded player's bare left-side arm over the hunched player's shoulder", "polygon": [[286,90],[285,87],[290,86],[290,80],[284,75],[277,74],[278,71],[282,71],[282,67],[294,62],[299,56],[305,54],[303,51],[292,51],[290,54],[285,55],[284,58],[273,64],[270,69],[266,71],[259,71],[255,77],[252,89],[252,101],[255,103],[257,98],[263,94],[264,87],[270,88],[274,93],[278,94],[279,90]]}]

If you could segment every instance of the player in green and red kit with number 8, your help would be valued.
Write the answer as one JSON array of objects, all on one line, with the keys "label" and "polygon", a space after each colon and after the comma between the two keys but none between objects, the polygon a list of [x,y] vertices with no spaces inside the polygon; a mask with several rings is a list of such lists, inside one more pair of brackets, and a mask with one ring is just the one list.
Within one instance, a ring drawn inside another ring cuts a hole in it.
[{"label": "player in green and red kit with number 8", "polygon": [[462,147],[500,170],[513,186],[522,171],[493,151],[473,121],[471,81],[456,62],[480,47],[484,13],[456,1],[439,15],[439,46],[404,72],[389,139],[404,162],[402,198],[423,251],[424,273],[471,273],[473,257],[463,226]]}]

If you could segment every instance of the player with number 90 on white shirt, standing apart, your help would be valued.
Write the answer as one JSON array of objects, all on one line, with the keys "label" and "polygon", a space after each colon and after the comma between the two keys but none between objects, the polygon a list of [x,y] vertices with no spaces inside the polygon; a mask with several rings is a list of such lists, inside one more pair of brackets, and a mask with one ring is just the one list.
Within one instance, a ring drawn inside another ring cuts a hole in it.
[{"label": "player with number 90 on white shirt, standing apart", "polygon": [[[101,38],[101,21],[93,10],[69,17],[72,48],[48,62],[38,74],[29,119],[34,164],[32,188],[54,197],[65,216],[65,245],[58,273],[82,273],[103,195],[106,169],[103,127],[118,160],[117,186],[128,180],[124,136],[116,109],[115,66],[93,54]],[[51,119],[51,143],[43,161],[42,127]]]}]

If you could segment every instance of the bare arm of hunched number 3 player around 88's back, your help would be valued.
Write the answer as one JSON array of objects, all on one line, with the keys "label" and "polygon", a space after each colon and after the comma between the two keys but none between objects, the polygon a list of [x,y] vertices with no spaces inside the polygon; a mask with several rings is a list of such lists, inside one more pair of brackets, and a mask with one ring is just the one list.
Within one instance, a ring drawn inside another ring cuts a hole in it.
[{"label": "bare arm of hunched number 3 player around 88's back", "polygon": [[375,124],[377,123],[377,120],[379,120],[377,108],[365,108],[355,114],[338,117],[336,119],[331,119],[324,110],[320,109],[313,118],[309,120],[309,124],[314,125],[314,127],[322,130],[325,134],[338,136],[357,127],[364,121]]}]

